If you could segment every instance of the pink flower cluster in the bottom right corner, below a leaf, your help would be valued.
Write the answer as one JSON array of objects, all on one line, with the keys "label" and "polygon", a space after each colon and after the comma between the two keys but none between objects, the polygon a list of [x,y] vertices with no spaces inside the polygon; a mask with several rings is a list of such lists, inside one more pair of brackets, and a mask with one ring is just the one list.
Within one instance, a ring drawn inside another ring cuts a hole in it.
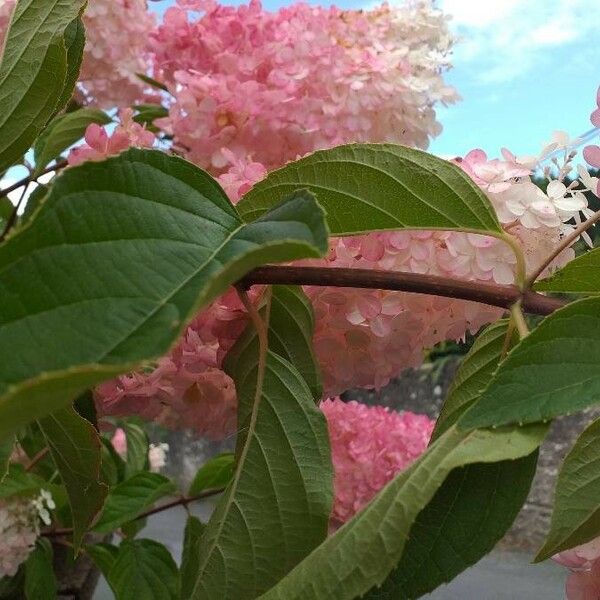
[{"label": "pink flower cluster in the bottom right corner, below a leaf", "polygon": [[552,558],[571,570],[565,588],[568,600],[600,598],[600,538]]}]

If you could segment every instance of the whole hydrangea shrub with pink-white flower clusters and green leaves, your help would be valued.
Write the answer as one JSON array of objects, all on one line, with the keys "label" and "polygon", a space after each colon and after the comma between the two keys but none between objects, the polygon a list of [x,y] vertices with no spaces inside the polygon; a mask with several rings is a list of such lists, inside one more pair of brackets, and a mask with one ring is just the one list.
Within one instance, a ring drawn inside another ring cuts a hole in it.
[{"label": "whole hydrangea shrub with pink-white flower clusters and green leaves", "polygon": [[[119,600],[414,598],[510,527],[548,422],[598,402],[600,148],[425,152],[447,21],[0,1],[0,162],[29,170],[0,192],[0,597],[56,596],[52,540]],[[437,422],[339,398],[467,335]],[[235,453],[178,491],[148,422]],[[600,585],[597,430],[538,554],[570,599]],[[180,566],[143,537],[212,496]]]}]

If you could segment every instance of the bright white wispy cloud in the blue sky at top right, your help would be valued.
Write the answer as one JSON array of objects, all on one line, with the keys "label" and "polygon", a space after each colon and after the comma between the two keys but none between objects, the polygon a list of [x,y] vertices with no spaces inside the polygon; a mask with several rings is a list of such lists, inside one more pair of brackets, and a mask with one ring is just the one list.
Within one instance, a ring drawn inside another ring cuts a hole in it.
[{"label": "bright white wispy cloud in the blue sky at top right", "polygon": [[[506,83],[545,65],[549,48],[597,30],[598,0],[440,0],[461,36],[455,63],[475,63],[482,83]],[[592,38],[591,46],[594,46]]]}]

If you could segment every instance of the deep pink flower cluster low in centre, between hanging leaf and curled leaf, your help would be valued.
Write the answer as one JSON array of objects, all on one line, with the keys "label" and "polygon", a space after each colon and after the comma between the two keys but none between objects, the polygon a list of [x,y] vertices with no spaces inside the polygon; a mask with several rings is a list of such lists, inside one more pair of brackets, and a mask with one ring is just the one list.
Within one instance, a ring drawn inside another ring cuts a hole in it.
[{"label": "deep pink flower cluster low in centre, between hanging leaf and curled leaf", "polygon": [[337,528],[425,451],[434,421],[339,398],[325,400],[321,409],[327,418],[335,469],[330,525]]}]

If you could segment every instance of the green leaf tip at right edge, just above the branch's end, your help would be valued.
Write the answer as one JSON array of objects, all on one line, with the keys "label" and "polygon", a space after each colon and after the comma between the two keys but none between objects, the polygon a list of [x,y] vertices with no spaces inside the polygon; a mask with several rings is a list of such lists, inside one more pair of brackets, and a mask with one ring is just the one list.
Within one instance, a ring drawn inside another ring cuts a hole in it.
[{"label": "green leaf tip at right edge, just above the branch's end", "polygon": [[586,252],[566,264],[547,279],[537,281],[540,292],[600,293],[600,248]]}]

